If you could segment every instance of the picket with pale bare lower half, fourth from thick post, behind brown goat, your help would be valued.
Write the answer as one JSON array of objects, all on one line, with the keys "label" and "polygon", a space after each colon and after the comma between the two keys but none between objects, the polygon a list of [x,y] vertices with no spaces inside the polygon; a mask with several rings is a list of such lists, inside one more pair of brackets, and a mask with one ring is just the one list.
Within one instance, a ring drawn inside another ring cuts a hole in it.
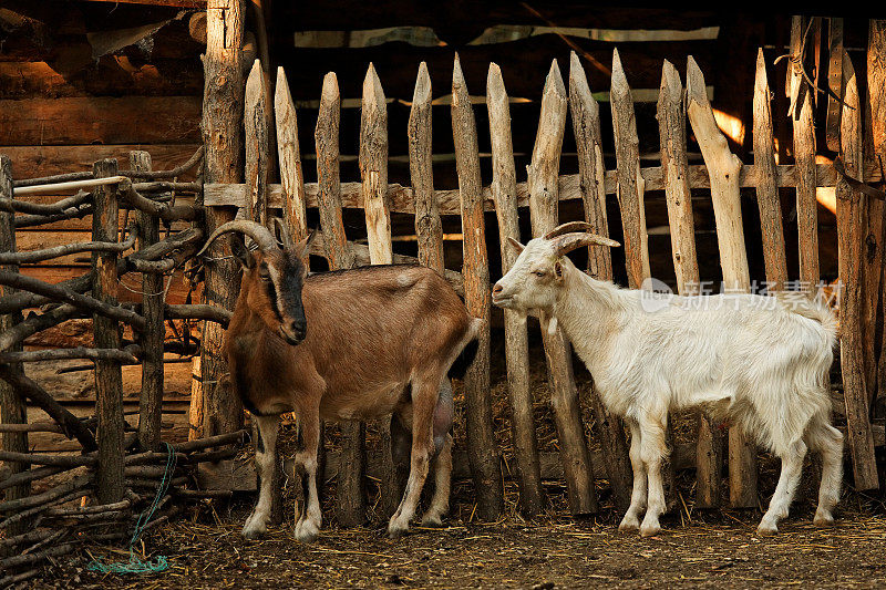
[{"label": "picket with pale bare lower half, fourth from thick post, behind brown goat", "polygon": [[[393,247],[391,214],[388,210],[388,105],[384,102],[381,81],[371,63],[363,80],[360,114],[360,178],[367,219],[369,261],[371,265],[390,265]],[[379,507],[384,518],[393,516],[401,497],[393,465],[391,420],[393,416],[378,421],[382,467]]]}]

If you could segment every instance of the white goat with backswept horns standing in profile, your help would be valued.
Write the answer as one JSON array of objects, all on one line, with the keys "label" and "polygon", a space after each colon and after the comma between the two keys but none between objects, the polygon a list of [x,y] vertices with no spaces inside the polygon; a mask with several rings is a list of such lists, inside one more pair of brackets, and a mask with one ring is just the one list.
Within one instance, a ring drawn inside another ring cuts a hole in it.
[{"label": "white goat with backswept horns standing in profile", "polygon": [[639,527],[642,536],[661,530],[668,411],[692,406],[728,416],[781,458],[759,534],[777,532],[787,516],[807,448],[823,458],[814,522],[833,524],[843,435],[831,425],[828,371],[836,332],[831,311],[805,300],[791,306],[754,294],[670,296],[645,304],[648,291],[594,279],[566,258],[583,246],[618,246],[588,229],[571,222],[525,247],[512,240],[522,252],[495,284],[493,302],[540,310],[547,330],[559,322],[602,403],[628,423],[633,491],[619,529]]}]

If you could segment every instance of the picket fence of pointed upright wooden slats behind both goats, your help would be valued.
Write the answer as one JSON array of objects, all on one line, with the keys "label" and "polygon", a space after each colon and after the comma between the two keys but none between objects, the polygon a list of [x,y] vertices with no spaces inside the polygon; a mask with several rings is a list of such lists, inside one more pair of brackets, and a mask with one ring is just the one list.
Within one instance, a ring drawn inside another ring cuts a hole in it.
[{"label": "picket fence of pointed upright wooden slats behind both goats", "polygon": [[[800,48],[805,27],[804,21],[795,19],[793,46],[796,55],[802,53]],[[878,22],[872,24],[872,55],[882,51],[882,44],[876,41],[882,27]],[[464,296],[471,313],[486,320],[487,328],[481,334],[480,354],[465,380],[465,413],[467,456],[476,484],[478,514],[484,518],[494,518],[501,510],[502,490],[498,484],[499,457],[494,445],[491,420],[490,255],[485,244],[487,232],[484,210],[495,210],[497,215],[499,241],[503,245],[502,269],[506,271],[513,265],[514,258],[513,252],[504,245],[507,237],[521,238],[517,224],[521,207],[528,206],[532,232],[533,236],[538,236],[558,222],[560,200],[581,199],[585,220],[594,225],[597,232],[606,235],[606,200],[608,195],[616,194],[621,214],[628,283],[638,288],[650,276],[643,199],[648,193],[663,192],[668,204],[678,288],[683,294],[692,294],[697,292],[703,278],[699,276],[696,256],[692,190],[705,189],[705,197],[700,197],[697,192],[694,198],[707,198],[709,192],[712,199],[724,288],[748,291],[751,288],[751,277],[740,192],[742,188],[754,187],[762,224],[765,279],[782,289],[787,283],[789,275],[780,189],[792,188],[796,192],[799,277],[801,284],[815,286],[820,281],[816,188],[836,187],[837,231],[841,240],[839,276],[844,286],[841,355],[848,444],[856,486],[859,489],[874,489],[878,483],[874,460],[875,428],[869,418],[869,408],[878,379],[874,360],[877,359],[875,349],[879,344],[865,334],[877,333],[876,323],[882,321],[882,315],[877,312],[882,261],[879,258],[873,262],[866,259],[862,244],[866,240],[870,247],[873,240],[873,250],[879,257],[882,221],[878,216],[883,204],[876,196],[859,192],[864,187],[859,187],[854,180],[878,178],[879,173],[864,169],[865,159],[861,154],[862,126],[857,118],[861,110],[858,104],[853,106],[853,101],[857,103],[858,99],[852,62],[842,48],[837,46],[834,51],[842,52],[839,63],[843,76],[843,84],[838,89],[841,92],[837,97],[832,99],[843,103],[839,110],[841,156],[836,166],[816,164],[815,131],[811,115],[811,102],[815,97],[799,65],[792,72],[790,85],[795,164],[776,165],[771,93],[761,51],[754,89],[753,164],[743,164],[730,152],[709,103],[703,73],[690,58],[686,89],[677,69],[668,62],[663,64],[658,102],[661,165],[641,167],[631,91],[616,51],[609,89],[616,145],[615,169],[605,169],[599,108],[588,87],[580,60],[573,54],[568,92],[556,61],[548,73],[532,164],[527,167],[525,183],[517,183],[506,90],[501,71],[495,64],[491,64],[485,104],[488,108],[493,173],[487,186],[483,186],[481,178],[478,130],[473,114],[473,103],[484,101],[472,100],[456,55],[451,90],[459,188],[442,190],[433,186],[430,139],[432,130],[427,115],[431,80],[424,64],[419,66],[406,130],[413,185],[408,187],[387,183],[389,130],[385,101],[381,81],[372,65],[369,66],[363,84],[361,182],[342,183],[339,178],[339,93],[336,74],[329,73],[323,81],[315,134],[318,183],[303,183],[297,142],[297,116],[289,99],[286,75],[280,69],[277,73],[274,104],[281,184],[268,184],[266,163],[269,155],[262,154],[261,149],[269,149],[266,143],[269,134],[260,125],[253,123],[260,122],[266,116],[268,101],[265,96],[269,91],[264,87],[267,79],[262,76],[261,68],[256,62],[246,82],[247,183],[206,184],[204,205],[210,208],[240,207],[246,209],[247,216],[262,222],[279,210],[295,236],[306,235],[306,211],[316,207],[319,210],[322,239],[318,241],[313,253],[326,256],[331,268],[348,268],[353,263],[408,261],[408,257],[392,255],[391,213],[415,216],[419,261],[445,272],[453,287]],[[874,64],[879,63],[875,58],[870,60]],[[796,65],[801,61],[795,60],[794,63]],[[874,82],[882,75],[879,70],[868,71],[868,77]],[[873,82],[869,85],[872,105],[878,105],[882,97],[876,91],[879,86]],[[566,133],[567,113],[571,115],[573,133],[578,146],[579,173],[560,176],[558,163]],[[690,166],[688,163],[687,117],[689,130],[701,148],[704,165]],[[260,147],[256,149],[250,146]],[[343,207],[365,211],[368,245],[348,241],[342,224]],[[463,267],[460,273],[445,270],[442,259],[441,215],[461,215]],[[598,249],[589,252],[589,271],[599,277],[611,278],[612,266],[608,252]],[[864,344],[866,338],[869,350]],[[559,331],[548,334],[547,330],[543,330],[543,339],[569,505],[574,514],[593,513],[597,509],[595,476],[580,420],[569,344]],[[525,320],[511,312],[505,313],[505,351],[521,507],[527,514],[535,514],[543,505],[543,489],[528,390],[527,328]],[[882,372],[879,380],[882,383]],[[626,505],[631,473],[624,427],[594,395],[591,403],[598,425],[596,435],[600,437],[605,448],[601,458],[606,464],[606,477],[612,486],[616,504]],[[346,428],[344,439],[342,452],[349,460],[340,464],[339,480],[347,482],[348,485],[339,487],[339,503],[340,506],[352,507],[360,513],[360,479],[365,463],[362,459],[363,429],[357,426]],[[700,416],[696,452],[699,478],[697,501],[700,507],[719,504],[721,456],[722,442],[718,428]],[[758,506],[755,447],[735,428],[729,431],[728,464],[730,504],[735,507]],[[349,473],[349,469],[354,472]],[[347,511],[340,510],[339,514],[341,516]],[[361,518],[362,516],[352,514],[346,520],[359,521]]]}]

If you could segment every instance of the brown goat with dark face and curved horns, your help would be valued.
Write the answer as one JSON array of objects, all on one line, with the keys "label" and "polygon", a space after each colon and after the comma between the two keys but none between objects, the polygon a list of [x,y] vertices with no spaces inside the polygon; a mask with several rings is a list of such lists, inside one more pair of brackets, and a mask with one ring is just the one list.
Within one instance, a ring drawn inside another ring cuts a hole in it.
[{"label": "brown goat with dark face and curved horns", "polygon": [[[377,266],[307,277],[308,239],[277,246],[262,226],[230,221],[231,249],[244,266],[240,296],[225,339],[231,383],[258,424],[259,500],[243,534],[267,530],[277,421],[295,411],[302,448],[296,470],[305,507],[296,538],[320,528],[317,448],[320,420],[372,420],[394,413],[412,431],[410,476],[388,532],[405,532],[415,514],[434,451],[436,489],[423,524],[440,525],[449,509],[452,394],[446,373],[482,320],[473,319],[452,287],[420,266]],[[307,320],[307,321],[306,321]],[[297,344],[297,345],[293,345]],[[439,395],[441,392],[441,395]]]}]

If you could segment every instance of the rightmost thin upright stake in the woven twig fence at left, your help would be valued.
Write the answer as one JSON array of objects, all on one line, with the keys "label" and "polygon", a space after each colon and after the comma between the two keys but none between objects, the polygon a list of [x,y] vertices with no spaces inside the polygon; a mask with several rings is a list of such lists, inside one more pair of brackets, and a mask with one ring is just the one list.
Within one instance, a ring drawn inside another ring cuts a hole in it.
[{"label": "rightmost thin upright stake in the woven twig fence at left", "polygon": [[[130,168],[151,169],[151,154],[130,152]],[[136,209],[138,226],[138,250],[144,250],[159,240],[159,218]],[[163,412],[163,340],[166,325],[163,318],[163,275],[142,275],[142,315],[145,331],[142,333],[142,394],[138,401],[138,444],[146,451],[159,451],[161,417]]]}]

